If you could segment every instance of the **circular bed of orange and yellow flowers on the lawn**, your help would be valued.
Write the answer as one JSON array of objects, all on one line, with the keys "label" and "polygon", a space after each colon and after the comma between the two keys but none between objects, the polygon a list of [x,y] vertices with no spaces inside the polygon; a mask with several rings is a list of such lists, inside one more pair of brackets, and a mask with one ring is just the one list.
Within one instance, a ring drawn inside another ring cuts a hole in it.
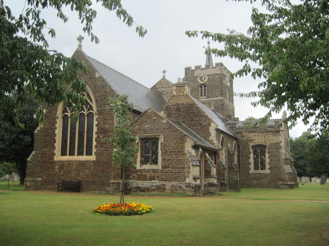
[{"label": "circular bed of orange and yellow flowers on the lawn", "polygon": [[109,203],[98,206],[93,210],[95,214],[106,215],[142,215],[153,211],[152,206],[144,203],[129,202],[124,203],[124,206],[118,203]]}]

